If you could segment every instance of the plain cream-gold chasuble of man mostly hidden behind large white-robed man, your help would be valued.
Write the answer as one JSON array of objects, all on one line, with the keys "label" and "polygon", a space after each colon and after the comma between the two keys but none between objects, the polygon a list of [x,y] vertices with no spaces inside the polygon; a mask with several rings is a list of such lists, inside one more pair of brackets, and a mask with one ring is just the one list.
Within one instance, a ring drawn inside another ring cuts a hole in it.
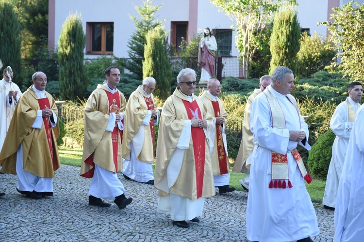
[{"label": "plain cream-gold chasuble of man mostly hidden behind large white-robed man", "polygon": [[243,172],[248,173],[250,169],[250,163],[247,163],[248,156],[253,151],[253,133],[250,131],[250,107],[254,98],[261,93],[259,88],[254,89],[254,92],[248,97],[247,103],[245,105],[244,120],[243,120],[243,132],[240,142],[240,147],[238,154],[236,155],[234,166],[232,167],[233,172]]}]

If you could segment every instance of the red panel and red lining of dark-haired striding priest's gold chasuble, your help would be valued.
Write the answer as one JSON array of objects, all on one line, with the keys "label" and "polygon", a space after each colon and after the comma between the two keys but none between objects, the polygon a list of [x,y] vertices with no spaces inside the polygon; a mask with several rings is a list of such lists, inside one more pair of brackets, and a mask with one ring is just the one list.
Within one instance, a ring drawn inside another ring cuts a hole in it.
[{"label": "red panel and red lining of dark-haired striding priest's gold chasuble", "polygon": [[[112,94],[110,91],[105,91],[107,95],[107,99],[109,101],[109,113],[111,110],[114,112],[115,107],[117,106],[120,108],[120,96],[119,92],[116,91],[114,94]],[[117,113],[117,111],[115,111]],[[123,122],[123,121],[122,121]],[[115,172],[117,173],[117,145],[118,145],[118,136],[120,134],[121,142],[123,141],[123,131],[119,130],[117,125],[115,125],[113,132],[111,132],[111,139],[113,144],[113,160],[114,160],[114,166],[115,166]],[[84,173],[82,176],[85,178],[93,178],[94,172],[95,172],[95,163],[93,161],[92,155],[90,155],[85,161],[87,165],[93,166],[92,169]]]}]

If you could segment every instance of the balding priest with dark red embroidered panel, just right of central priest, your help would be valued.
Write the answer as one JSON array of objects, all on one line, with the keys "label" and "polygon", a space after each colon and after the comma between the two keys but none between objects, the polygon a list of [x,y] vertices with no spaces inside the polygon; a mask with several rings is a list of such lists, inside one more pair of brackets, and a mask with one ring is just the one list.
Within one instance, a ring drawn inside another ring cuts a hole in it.
[{"label": "balding priest with dark red embroidered panel, just right of central priest", "polygon": [[210,79],[207,82],[208,91],[204,91],[199,98],[207,106],[210,114],[215,119],[215,129],[213,129],[211,140],[214,142],[213,149],[210,150],[211,163],[214,172],[215,187],[220,194],[235,191],[230,187],[230,163],[228,157],[228,146],[225,135],[225,119],[228,113],[222,105],[222,101],[217,96],[220,94],[221,85],[219,80]]}]

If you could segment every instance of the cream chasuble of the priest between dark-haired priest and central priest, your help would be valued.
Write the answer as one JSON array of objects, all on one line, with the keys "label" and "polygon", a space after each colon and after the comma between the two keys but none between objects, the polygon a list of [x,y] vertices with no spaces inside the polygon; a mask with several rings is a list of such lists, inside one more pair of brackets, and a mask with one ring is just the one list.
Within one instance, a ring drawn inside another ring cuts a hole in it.
[{"label": "cream chasuble of the priest between dark-haired priest and central priest", "polygon": [[[142,86],[139,86],[129,97],[128,105],[125,111],[124,117],[124,136],[123,136],[123,158],[126,160],[131,159],[131,142],[138,132],[143,132],[144,140],[138,140],[137,142],[143,142],[143,147],[139,154],[136,154],[136,159],[145,163],[152,163],[154,161],[154,118],[151,117],[149,125],[142,125],[144,118],[147,115],[148,110],[157,110],[157,104],[153,94],[150,97],[145,95]],[[140,131],[140,128],[143,131]],[[139,137],[139,136],[138,136]],[[134,140],[135,148],[135,140]]]}]

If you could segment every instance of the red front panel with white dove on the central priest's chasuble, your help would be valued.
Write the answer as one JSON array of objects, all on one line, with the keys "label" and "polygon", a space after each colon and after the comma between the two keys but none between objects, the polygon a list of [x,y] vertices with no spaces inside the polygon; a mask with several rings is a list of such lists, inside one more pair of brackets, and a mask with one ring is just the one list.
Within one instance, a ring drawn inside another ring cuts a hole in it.
[{"label": "red front panel with white dove on the central priest's chasuble", "polygon": [[[188,119],[192,119],[193,117],[202,119],[201,111],[196,100],[192,103],[186,100],[182,101],[186,108]],[[197,198],[200,198],[202,197],[203,175],[205,171],[205,133],[202,128],[191,127],[191,136],[195,155]]]}]

